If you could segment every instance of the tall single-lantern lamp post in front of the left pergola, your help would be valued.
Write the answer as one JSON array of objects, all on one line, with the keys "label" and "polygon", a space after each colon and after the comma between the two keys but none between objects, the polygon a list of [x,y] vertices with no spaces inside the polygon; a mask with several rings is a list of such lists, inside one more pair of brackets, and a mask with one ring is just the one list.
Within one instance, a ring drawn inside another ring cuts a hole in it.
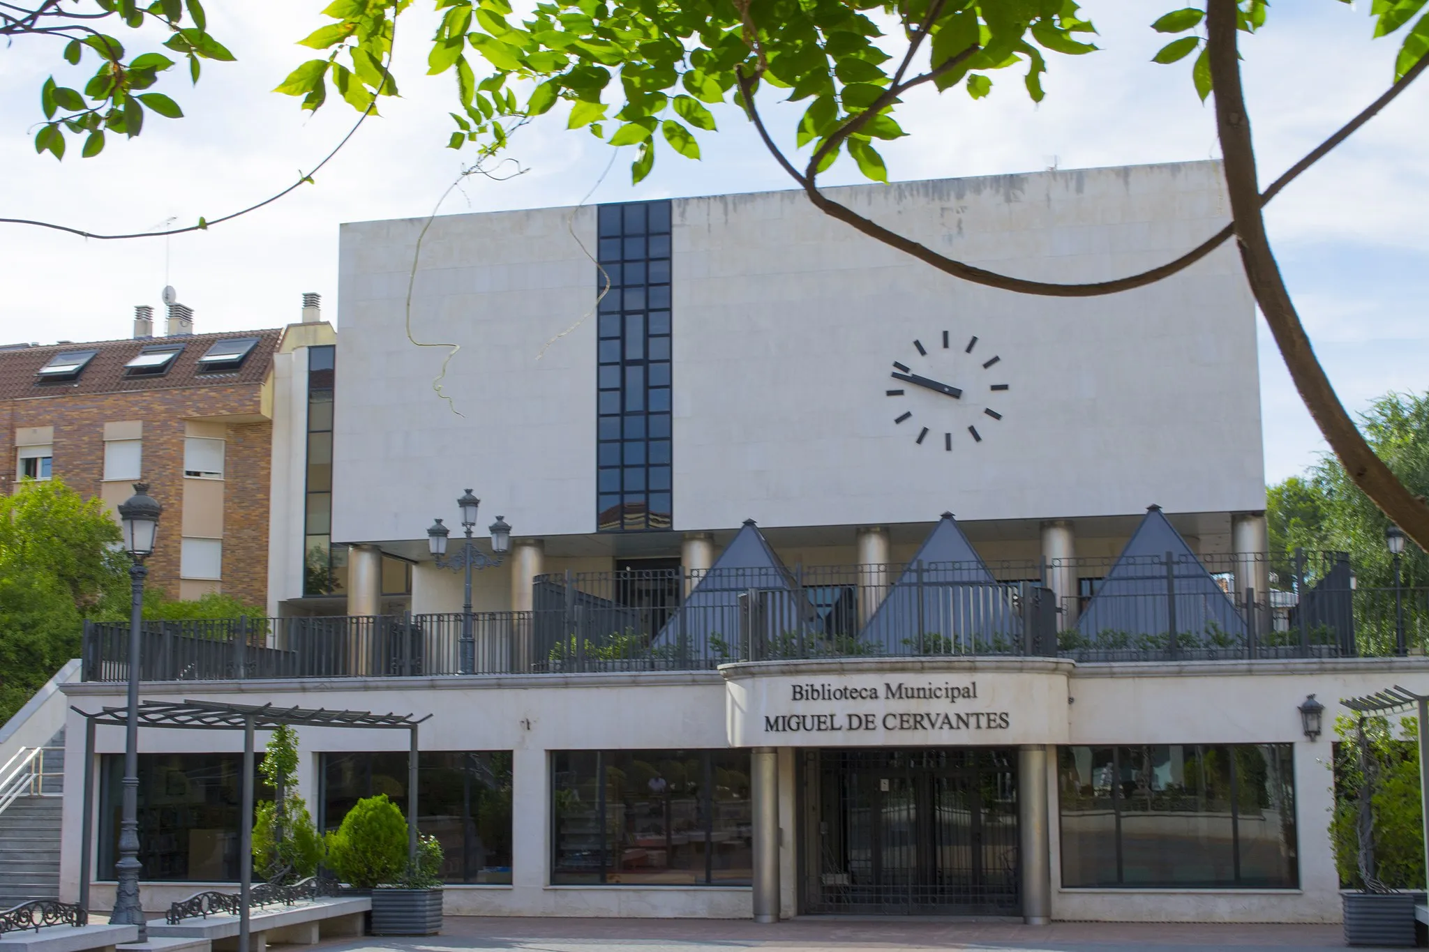
[{"label": "tall single-lantern lamp post in front of the left pergola", "polygon": [[139,941],[147,941],[144,909],[139,903],[139,639],[144,618],[144,559],[154,551],[159,515],[163,512],[149,495],[149,484],[136,482],[134,495],[119,505],[129,565],[129,707],[124,718],[124,801],[119,824],[119,862],[114,864],[114,911],[109,921],[137,925]]}]

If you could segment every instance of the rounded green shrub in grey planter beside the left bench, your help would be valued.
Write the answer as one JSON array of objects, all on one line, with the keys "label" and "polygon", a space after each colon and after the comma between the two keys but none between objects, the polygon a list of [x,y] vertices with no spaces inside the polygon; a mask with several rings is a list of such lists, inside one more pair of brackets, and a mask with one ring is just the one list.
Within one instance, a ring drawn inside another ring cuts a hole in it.
[{"label": "rounded green shrub in grey planter beside the left bench", "polygon": [[357,801],[327,834],[327,865],[343,882],[370,891],[373,935],[442,931],[442,846],[420,838],[409,864],[407,821],[386,794]]}]

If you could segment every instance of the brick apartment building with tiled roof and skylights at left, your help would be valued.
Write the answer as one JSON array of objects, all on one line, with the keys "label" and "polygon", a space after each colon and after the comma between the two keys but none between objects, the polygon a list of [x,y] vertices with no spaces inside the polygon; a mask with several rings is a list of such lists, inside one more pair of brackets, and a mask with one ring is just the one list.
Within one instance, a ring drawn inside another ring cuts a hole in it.
[{"label": "brick apartment building with tiled roof and skylights at left", "polygon": [[289,330],[194,334],[176,304],[163,337],[139,307],[129,340],[0,348],[0,492],[60,478],[113,511],[147,482],[164,507],[150,584],[266,605],[274,355],[330,340],[316,297]]}]

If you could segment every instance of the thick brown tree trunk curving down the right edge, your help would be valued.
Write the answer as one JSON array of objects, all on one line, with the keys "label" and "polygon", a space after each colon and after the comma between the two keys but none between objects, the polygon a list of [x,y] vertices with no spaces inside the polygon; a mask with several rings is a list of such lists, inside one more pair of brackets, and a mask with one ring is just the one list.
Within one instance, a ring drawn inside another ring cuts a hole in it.
[{"label": "thick brown tree trunk curving down the right edge", "polygon": [[[1429,507],[1413,497],[1383,460],[1375,455],[1355,421],[1350,420],[1330,385],[1325,368],[1315,357],[1310,338],[1300,324],[1290,293],[1280,277],[1260,214],[1262,198],[1256,186],[1255,146],[1250,117],[1246,114],[1240,87],[1240,63],[1236,50],[1236,0],[1209,0],[1206,4],[1210,80],[1216,97],[1216,131],[1220,137],[1226,188],[1235,217],[1236,243],[1246,278],[1260,313],[1275,335],[1290,380],[1319,425],[1345,472],[1385,515],[1395,521],[1420,548],[1429,551]],[[1328,150],[1326,150],[1328,151]]]}]

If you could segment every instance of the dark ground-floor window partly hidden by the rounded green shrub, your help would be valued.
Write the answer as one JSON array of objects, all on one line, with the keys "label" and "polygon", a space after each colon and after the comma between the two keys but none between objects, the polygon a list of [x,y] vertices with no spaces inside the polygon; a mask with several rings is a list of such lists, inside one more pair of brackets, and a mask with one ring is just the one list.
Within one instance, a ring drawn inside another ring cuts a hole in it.
[{"label": "dark ground-floor window partly hidden by the rounded green shrub", "polygon": [[[423,751],[417,756],[417,829],[436,836],[446,882],[510,883],[512,755]],[[337,829],[364,796],[407,809],[407,755],[323,754],[319,824]]]}]

